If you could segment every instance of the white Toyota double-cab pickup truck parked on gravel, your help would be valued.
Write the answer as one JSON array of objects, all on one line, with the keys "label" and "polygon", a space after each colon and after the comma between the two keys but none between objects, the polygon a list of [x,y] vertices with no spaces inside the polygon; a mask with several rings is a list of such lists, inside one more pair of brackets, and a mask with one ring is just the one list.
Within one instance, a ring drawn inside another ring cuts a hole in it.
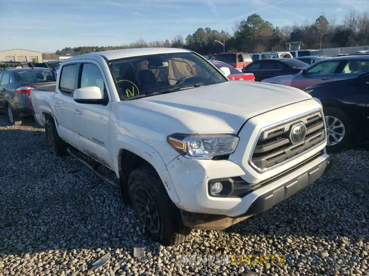
[{"label": "white Toyota double-cab pickup truck parked on gravel", "polygon": [[63,61],[55,90],[31,101],[51,152],[120,188],[173,245],[272,208],[331,165],[319,100],[228,74],[185,49],[111,50]]}]

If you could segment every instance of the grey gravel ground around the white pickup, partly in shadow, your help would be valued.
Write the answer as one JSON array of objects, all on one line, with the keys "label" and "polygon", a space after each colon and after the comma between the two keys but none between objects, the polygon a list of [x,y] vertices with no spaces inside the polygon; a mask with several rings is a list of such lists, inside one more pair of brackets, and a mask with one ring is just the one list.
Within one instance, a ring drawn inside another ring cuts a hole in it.
[{"label": "grey gravel ground around the white pickup, partly in shadow", "polygon": [[[364,150],[334,155],[329,173],[266,213],[164,248],[141,233],[112,187],[76,160],[49,154],[44,129],[8,126],[1,115],[0,141],[0,275],[369,275]],[[195,253],[203,259],[186,262]],[[219,254],[286,258],[211,262]]]}]

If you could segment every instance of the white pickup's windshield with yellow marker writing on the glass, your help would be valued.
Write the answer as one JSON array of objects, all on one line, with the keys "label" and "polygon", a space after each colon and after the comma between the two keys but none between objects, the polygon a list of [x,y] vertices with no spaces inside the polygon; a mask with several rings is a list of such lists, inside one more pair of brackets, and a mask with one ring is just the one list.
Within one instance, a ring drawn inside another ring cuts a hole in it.
[{"label": "white pickup's windshield with yellow marker writing on the glass", "polygon": [[228,81],[192,52],[152,54],[108,62],[123,99]]}]

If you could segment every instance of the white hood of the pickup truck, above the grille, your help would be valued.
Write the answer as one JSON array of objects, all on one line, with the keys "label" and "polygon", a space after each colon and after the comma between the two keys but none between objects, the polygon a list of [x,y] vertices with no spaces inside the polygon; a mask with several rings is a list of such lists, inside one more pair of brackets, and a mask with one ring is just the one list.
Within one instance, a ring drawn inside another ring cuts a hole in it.
[{"label": "white hood of the pickup truck, above the grille", "polygon": [[[123,101],[126,111],[173,133],[237,133],[251,117],[311,99],[300,89],[260,82],[228,81]],[[172,120],[172,122],[170,121]]]}]

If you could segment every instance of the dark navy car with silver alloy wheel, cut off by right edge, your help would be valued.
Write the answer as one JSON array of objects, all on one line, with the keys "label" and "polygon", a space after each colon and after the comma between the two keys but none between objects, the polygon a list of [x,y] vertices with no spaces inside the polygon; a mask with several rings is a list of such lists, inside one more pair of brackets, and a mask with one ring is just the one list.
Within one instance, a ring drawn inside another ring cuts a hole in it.
[{"label": "dark navy car with silver alloy wheel, cut off by right edge", "polygon": [[323,104],[327,151],[369,142],[369,72],[356,78],[323,82],[304,89]]}]

